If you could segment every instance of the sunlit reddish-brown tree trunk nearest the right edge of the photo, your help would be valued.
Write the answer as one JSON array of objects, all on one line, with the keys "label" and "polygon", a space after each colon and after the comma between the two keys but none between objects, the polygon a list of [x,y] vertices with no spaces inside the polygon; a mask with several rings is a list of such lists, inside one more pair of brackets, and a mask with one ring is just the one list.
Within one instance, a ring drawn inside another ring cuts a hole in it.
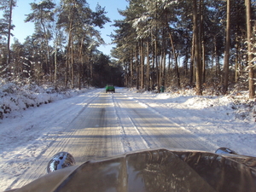
[{"label": "sunlit reddish-brown tree trunk nearest the right edge of the photo", "polygon": [[255,96],[254,73],[253,73],[253,50],[252,50],[252,25],[251,25],[251,0],[245,0],[247,8],[247,52],[248,52],[248,73],[249,73],[249,97]]}]

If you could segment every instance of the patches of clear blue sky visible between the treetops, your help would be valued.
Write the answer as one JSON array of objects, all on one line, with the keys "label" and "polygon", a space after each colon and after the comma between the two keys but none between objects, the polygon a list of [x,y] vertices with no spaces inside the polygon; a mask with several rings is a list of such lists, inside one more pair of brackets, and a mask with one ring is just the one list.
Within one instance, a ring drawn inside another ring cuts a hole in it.
[{"label": "patches of clear blue sky visible between the treetops", "polygon": [[[32,35],[34,32],[34,24],[24,22],[26,18],[25,15],[32,13],[29,3],[39,3],[40,1],[41,0],[17,0],[17,7],[15,7],[13,11],[13,24],[15,25],[15,29],[13,31],[15,36],[13,38],[18,38],[20,43],[23,43],[24,39],[27,36]],[[53,0],[53,2],[58,3],[59,1]],[[125,0],[87,0],[87,3],[90,4],[90,9],[92,10],[95,10],[97,3],[102,7],[105,7],[108,12],[107,16],[112,21],[122,19],[122,16],[118,13],[118,9],[124,10],[128,5]],[[113,23],[106,24],[105,28],[101,30],[102,38],[106,44],[111,43],[111,38],[109,38],[108,35],[113,32],[114,27],[111,26],[112,24]],[[112,47],[113,45],[102,45],[99,47],[99,50],[101,50],[103,54],[109,55]]]}]

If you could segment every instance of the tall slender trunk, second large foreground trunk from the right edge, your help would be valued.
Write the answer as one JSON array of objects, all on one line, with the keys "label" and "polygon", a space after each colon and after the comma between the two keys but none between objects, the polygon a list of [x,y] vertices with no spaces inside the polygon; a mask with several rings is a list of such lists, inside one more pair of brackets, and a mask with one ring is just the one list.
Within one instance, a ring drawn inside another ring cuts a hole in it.
[{"label": "tall slender trunk, second large foreground trunk from the right edge", "polygon": [[224,53],[224,94],[229,86],[229,67],[230,67],[230,0],[227,0],[227,24],[226,24],[226,44]]}]

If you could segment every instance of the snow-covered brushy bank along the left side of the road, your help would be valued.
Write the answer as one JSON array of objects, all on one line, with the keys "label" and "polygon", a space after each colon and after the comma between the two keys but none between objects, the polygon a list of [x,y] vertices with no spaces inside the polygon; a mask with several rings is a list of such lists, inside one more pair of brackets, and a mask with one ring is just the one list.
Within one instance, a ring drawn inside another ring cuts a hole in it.
[{"label": "snow-covered brushy bank along the left side of the road", "polygon": [[42,104],[77,96],[86,90],[55,90],[47,85],[2,82],[0,84],[0,119],[15,116],[26,108],[35,108]]}]

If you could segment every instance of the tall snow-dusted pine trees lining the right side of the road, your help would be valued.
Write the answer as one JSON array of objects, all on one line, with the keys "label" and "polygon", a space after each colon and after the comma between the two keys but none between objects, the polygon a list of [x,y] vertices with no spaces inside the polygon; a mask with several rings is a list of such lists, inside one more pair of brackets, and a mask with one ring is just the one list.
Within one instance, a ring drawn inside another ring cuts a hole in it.
[{"label": "tall snow-dusted pine trees lining the right side of the road", "polygon": [[119,10],[112,55],[125,68],[125,85],[230,87],[255,96],[254,0],[129,0]]}]

